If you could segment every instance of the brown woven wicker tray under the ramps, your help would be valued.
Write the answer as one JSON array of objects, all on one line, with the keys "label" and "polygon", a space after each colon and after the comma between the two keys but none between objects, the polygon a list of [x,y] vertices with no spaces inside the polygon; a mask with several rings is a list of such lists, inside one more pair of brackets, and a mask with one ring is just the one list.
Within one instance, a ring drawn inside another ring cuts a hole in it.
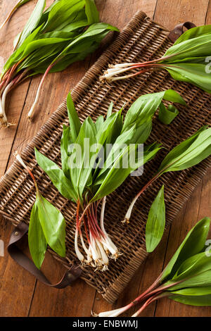
[{"label": "brown woven wicker tray under the ramps", "polygon": [[[163,89],[177,90],[188,103],[187,107],[179,106],[179,115],[172,125],[162,125],[155,115],[153,132],[148,142],[158,141],[167,149],[162,149],[153,161],[145,165],[141,177],[129,177],[116,192],[108,196],[106,229],[123,254],[115,263],[110,262],[110,268],[106,273],[94,273],[93,268],[83,268],[82,279],[95,287],[110,303],[117,299],[147,256],[144,230],[148,209],[162,183],[165,184],[167,225],[170,225],[210,166],[210,160],[207,159],[189,170],[165,174],[137,201],[130,225],[120,223],[129,201],[155,173],[167,151],[196,132],[202,125],[211,123],[210,95],[197,87],[172,80],[165,71],[146,73],[131,80],[115,82],[113,85],[100,82],[99,76],[107,68],[108,63],[147,61],[162,56],[172,45],[167,35],[167,30],[139,11],[72,91],[81,120],[87,115],[94,119],[99,114],[105,115],[110,101],[113,101],[115,110],[125,104],[125,112],[141,94],[159,92]],[[49,251],[68,267],[72,263],[78,264],[74,253],[75,204],[60,196],[34,159],[34,146],[37,146],[39,151],[60,165],[63,123],[68,123],[65,101],[41,127],[32,142],[24,149],[22,156],[32,168],[41,192],[65,216],[67,256],[62,259],[51,249]],[[28,223],[34,198],[32,180],[15,161],[0,180],[0,208],[11,216],[14,225],[21,220]]]}]

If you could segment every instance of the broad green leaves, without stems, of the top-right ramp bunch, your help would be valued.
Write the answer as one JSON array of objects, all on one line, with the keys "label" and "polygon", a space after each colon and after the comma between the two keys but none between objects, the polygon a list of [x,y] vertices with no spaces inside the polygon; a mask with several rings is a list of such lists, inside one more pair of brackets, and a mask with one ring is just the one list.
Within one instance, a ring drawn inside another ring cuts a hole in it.
[{"label": "broad green leaves, without stems, of the top-right ramp bunch", "polygon": [[210,56],[211,25],[193,27],[177,39],[159,61],[174,80],[189,82],[211,93],[207,56]]}]

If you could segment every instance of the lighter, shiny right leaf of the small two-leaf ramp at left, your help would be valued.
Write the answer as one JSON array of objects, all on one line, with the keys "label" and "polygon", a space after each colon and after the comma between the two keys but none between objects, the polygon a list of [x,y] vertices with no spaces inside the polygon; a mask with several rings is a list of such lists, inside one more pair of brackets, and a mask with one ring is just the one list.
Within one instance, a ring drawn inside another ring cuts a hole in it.
[{"label": "lighter, shiny right leaf of the small two-leaf ramp at left", "polygon": [[46,242],[59,256],[65,257],[65,219],[41,194],[37,196],[38,217]]}]

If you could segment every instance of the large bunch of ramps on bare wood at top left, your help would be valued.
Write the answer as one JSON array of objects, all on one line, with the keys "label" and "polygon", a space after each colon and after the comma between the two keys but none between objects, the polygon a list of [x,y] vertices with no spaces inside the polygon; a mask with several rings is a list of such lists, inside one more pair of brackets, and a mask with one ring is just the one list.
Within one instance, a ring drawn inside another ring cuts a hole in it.
[{"label": "large bunch of ramps on bare wood at top left", "polygon": [[6,61],[0,77],[0,128],[8,127],[5,113],[6,96],[28,77],[44,74],[31,119],[39,101],[41,87],[48,73],[64,70],[96,50],[110,31],[118,31],[99,23],[94,0],[56,0],[44,11],[45,0],[38,0],[23,31],[15,38],[13,54]]}]

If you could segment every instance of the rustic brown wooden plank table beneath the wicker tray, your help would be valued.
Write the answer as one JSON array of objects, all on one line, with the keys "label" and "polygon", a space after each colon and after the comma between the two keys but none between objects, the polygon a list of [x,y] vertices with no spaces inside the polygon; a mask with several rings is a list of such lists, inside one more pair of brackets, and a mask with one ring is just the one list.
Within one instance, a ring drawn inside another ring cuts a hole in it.
[{"label": "rustic brown wooden plank table beneath the wicker tray", "polygon": [[[17,0],[0,0],[3,21]],[[6,60],[11,54],[13,39],[20,32],[32,12],[36,1],[30,1],[18,10],[11,21],[0,32],[0,56]],[[51,4],[52,0],[47,0]],[[120,29],[141,9],[153,20],[171,30],[174,25],[192,21],[196,25],[211,24],[211,1],[209,0],[96,0],[101,20],[116,25]],[[1,24],[1,22],[0,22]],[[104,47],[104,46],[103,46]],[[27,121],[27,111],[34,99],[40,77],[25,81],[8,98],[8,119],[15,118],[15,126],[0,132],[0,176],[4,175],[13,161],[13,152],[23,146],[39,130],[39,127],[55,111],[70,89],[83,77],[84,73],[99,56],[89,56],[82,63],[75,63],[63,73],[50,74],[46,78],[44,92],[41,94],[39,115],[33,123]],[[1,63],[0,63],[1,65]],[[188,230],[197,220],[211,216],[211,171],[193,192],[191,199],[181,210],[177,219],[153,254],[141,266],[117,302],[111,306],[82,280],[67,289],[51,289],[37,282],[32,275],[20,268],[9,258],[0,257],[0,316],[90,316],[94,311],[105,311],[129,303],[143,292],[158,276],[170,256],[184,239]],[[12,226],[5,220],[0,222],[0,239],[5,245]],[[51,256],[44,262],[44,270],[52,281],[62,275],[60,264]],[[130,313],[133,313],[131,311]],[[162,299],[149,306],[142,316],[210,316],[211,307],[193,307]]]}]

